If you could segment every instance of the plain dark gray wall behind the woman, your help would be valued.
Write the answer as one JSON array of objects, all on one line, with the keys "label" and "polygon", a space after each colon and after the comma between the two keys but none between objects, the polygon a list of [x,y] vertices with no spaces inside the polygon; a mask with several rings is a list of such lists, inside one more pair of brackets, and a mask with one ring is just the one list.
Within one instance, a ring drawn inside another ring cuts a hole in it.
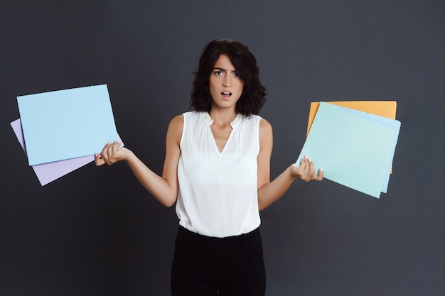
[{"label": "plain dark gray wall behind the woman", "polygon": [[296,181],[262,212],[267,295],[445,295],[441,0],[1,1],[0,295],[169,295],[174,208],[120,163],[41,187],[9,123],[18,95],[108,84],[119,134],[161,173],[215,38],[257,56],[272,177],[299,155],[310,102],[396,100],[402,122],[380,199]]}]

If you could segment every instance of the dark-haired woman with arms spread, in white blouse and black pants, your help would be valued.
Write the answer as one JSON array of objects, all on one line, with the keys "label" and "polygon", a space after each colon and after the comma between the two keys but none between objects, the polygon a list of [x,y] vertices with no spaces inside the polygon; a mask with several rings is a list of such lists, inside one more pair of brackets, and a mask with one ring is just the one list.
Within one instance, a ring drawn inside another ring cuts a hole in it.
[{"label": "dark-haired woman with arms spread, in white blouse and black pants", "polygon": [[[322,180],[311,159],[289,165],[270,182],[272,126],[257,61],[235,40],[204,48],[193,81],[194,111],[173,118],[166,135],[162,176],[128,148],[108,143],[96,165],[126,161],[161,204],[176,203],[179,231],[171,273],[172,295],[264,295],[266,275],[259,211],[291,183]],[[218,294],[219,293],[219,294]]]}]

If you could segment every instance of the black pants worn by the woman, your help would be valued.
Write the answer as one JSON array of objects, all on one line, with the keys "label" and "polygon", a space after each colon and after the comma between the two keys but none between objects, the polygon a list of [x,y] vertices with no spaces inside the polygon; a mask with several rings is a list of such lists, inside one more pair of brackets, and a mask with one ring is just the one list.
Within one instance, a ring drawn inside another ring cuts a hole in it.
[{"label": "black pants worn by the woman", "polygon": [[259,229],[223,239],[179,228],[171,270],[173,296],[264,296]]}]

